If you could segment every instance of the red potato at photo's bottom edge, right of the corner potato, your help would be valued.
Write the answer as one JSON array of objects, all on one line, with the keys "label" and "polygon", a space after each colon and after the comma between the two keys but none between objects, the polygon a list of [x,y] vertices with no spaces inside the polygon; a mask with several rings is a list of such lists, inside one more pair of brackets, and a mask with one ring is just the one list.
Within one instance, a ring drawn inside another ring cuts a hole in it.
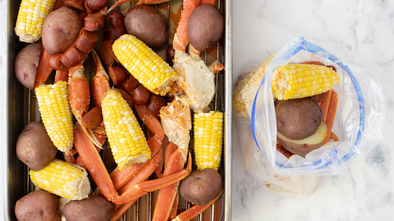
[{"label": "red potato at photo's bottom edge, right of the corner potato", "polygon": [[107,221],[111,220],[115,205],[104,196],[90,195],[82,200],[71,200],[63,207],[67,221]]}]

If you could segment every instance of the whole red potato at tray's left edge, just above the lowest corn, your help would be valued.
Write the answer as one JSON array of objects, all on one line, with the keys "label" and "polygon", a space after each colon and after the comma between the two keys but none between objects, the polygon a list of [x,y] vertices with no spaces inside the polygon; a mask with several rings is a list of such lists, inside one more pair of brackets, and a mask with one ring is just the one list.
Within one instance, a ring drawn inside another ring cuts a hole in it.
[{"label": "whole red potato at tray's left edge, just above the lowest corn", "polygon": [[16,143],[16,153],[32,171],[44,169],[55,157],[58,149],[40,122],[30,122],[25,126]]}]

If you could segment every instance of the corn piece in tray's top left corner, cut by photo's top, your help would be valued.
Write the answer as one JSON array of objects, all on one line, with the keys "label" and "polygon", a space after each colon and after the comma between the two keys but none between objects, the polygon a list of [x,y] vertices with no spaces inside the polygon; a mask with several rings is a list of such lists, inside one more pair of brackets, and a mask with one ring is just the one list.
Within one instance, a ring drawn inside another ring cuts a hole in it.
[{"label": "corn piece in tray's top left corner, cut by photo's top", "polygon": [[15,33],[23,42],[34,42],[41,37],[42,25],[54,8],[56,0],[22,0]]}]

